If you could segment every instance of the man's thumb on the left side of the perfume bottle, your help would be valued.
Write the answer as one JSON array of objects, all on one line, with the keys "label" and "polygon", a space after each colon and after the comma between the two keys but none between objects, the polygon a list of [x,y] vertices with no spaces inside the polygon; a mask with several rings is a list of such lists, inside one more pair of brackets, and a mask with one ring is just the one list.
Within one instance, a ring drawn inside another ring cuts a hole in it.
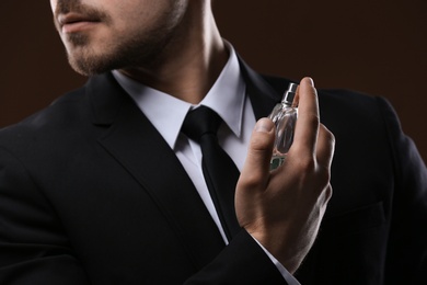
[{"label": "man's thumb on the left side of the perfume bottle", "polygon": [[251,136],[246,161],[239,180],[240,186],[258,189],[259,185],[267,183],[274,140],[274,123],[269,118],[261,118]]}]

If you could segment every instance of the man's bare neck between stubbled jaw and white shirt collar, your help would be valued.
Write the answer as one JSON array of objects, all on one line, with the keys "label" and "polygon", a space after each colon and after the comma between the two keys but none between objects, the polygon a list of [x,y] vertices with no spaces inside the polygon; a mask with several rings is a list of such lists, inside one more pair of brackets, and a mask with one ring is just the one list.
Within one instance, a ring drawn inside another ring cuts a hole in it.
[{"label": "man's bare neck between stubbled jaw and white shirt collar", "polygon": [[120,72],[192,104],[199,103],[215,81],[229,58],[223,41],[218,32],[210,8],[200,13],[197,11],[191,22],[193,29],[181,34],[164,50],[157,65],[145,68],[127,68]]}]

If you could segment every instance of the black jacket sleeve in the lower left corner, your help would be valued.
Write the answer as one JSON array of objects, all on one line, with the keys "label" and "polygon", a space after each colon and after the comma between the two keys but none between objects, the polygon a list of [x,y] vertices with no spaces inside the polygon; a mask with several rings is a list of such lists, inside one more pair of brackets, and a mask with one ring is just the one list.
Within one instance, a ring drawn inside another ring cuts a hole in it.
[{"label": "black jacket sleeve in the lower left corner", "polygon": [[0,284],[89,284],[48,202],[0,147]]}]

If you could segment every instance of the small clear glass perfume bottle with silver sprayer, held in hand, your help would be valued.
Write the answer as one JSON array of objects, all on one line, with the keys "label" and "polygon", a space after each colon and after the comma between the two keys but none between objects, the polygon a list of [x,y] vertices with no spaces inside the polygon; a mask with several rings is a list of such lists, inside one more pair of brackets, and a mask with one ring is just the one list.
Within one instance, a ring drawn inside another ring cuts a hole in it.
[{"label": "small clear glass perfume bottle with silver sprayer, held in hand", "polygon": [[298,117],[298,107],[293,105],[293,98],[298,84],[290,83],[280,103],[276,104],[268,116],[276,125],[276,138],[270,160],[270,170],[281,166],[293,141],[295,126]]}]

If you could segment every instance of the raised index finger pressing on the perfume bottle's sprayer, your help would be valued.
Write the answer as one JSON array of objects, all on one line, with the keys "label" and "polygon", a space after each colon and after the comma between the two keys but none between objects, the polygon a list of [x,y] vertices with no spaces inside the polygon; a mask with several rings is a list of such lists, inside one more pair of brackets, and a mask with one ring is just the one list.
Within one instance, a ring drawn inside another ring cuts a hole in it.
[{"label": "raised index finger pressing on the perfume bottle's sprayer", "polygon": [[311,78],[301,80],[297,95],[298,119],[292,147],[314,158],[320,115],[318,92]]}]

